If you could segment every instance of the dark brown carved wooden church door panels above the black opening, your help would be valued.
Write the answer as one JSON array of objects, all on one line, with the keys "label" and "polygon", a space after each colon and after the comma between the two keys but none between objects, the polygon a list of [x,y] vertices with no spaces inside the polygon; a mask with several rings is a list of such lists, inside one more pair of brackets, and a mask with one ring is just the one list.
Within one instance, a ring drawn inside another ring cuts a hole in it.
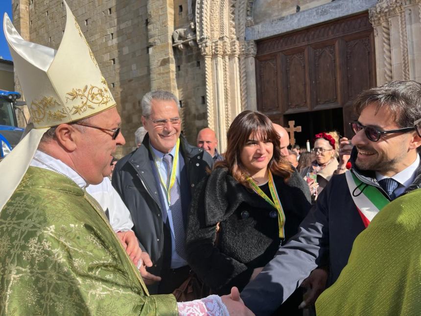
[{"label": "dark brown carved wooden church door panels above the black opening", "polygon": [[367,13],[258,42],[257,109],[282,120],[342,107],[350,136],[352,100],[375,86],[374,56]]}]

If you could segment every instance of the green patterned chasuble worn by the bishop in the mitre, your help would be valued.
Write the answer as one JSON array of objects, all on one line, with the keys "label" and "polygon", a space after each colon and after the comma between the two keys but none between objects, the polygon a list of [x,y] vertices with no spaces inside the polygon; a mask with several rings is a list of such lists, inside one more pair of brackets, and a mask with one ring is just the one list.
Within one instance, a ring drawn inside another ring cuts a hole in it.
[{"label": "green patterned chasuble worn by the bishop in the mitre", "polygon": [[178,315],[173,295],[149,296],[89,199],[29,167],[0,213],[0,315]]}]

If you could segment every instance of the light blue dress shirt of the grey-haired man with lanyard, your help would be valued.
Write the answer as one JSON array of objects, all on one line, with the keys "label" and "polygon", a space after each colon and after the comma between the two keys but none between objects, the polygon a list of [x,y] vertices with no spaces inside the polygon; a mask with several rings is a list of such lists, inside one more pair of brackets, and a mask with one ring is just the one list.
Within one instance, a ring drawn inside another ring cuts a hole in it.
[{"label": "light blue dress shirt of the grey-haired man with lanyard", "polygon": [[[175,147],[176,146],[174,146],[169,152],[169,154],[172,155],[173,159],[175,155]],[[156,150],[152,145],[150,145],[150,148],[152,148],[152,151],[154,154],[154,160],[155,160],[156,166],[158,167],[158,172],[161,175],[161,179],[164,183],[167,183],[168,166],[166,165],[166,163],[162,161],[165,154],[159,150]],[[175,173],[176,181],[178,181],[179,184],[180,184],[180,170],[182,170],[183,167],[184,167],[184,159],[183,159],[183,156],[179,154],[178,163],[176,166],[176,173]],[[166,200],[166,189],[164,189],[161,182],[160,182],[160,188],[161,188],[161,193],[164,196],[164,203],[166,207],[166,213],[168,216],[167,220],[169,223],[169,227],[171,229],[171,268],[175,269],[178,267],[184,267],[184,266],[187,266],[187,261],[184,260],[182,257],[180,257],[180,255],[175,250],[175,235],[174,235],[174,225],[172,222],[171,207],[168,206],[168,201]]]}]

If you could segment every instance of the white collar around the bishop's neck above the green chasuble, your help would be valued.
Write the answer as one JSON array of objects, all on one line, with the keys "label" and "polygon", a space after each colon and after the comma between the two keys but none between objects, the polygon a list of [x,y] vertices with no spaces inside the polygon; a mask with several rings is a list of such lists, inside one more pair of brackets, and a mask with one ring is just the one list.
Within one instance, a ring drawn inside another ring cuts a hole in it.
[{"label": "white collar around the bishop's neck above the green chasuble", "polygon": [[[73,180],[79,186],[79,188],[83,189],[87,186],[86,181],[79,175],[79,173],[71,169],[68,165],[66,165],[61,160],[51,157],[50,155],[46,154],[45,152],[41,150],[37,150],[35,152],[34,158],[42,161],[43,163],[45,163],[45,165],[38,162],[35,159],[32,159],[30,166],[43,168],[43,169],[47,169],[54,172],[59,171],[60,173],[67,175],[71,180]],[[48,168],[48,166],[53,169]]]}]

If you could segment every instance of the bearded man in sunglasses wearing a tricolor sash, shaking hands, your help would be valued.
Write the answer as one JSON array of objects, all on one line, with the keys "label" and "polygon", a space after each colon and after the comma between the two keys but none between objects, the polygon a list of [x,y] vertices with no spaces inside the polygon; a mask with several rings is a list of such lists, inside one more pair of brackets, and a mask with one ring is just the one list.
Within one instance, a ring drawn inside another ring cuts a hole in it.
[{"label": "bearded man in sunglasses wearing a tricolor sash, shaking hands", "polygon": [[351,123],[351,172],[332,177],[300,232],[241,293],[256,315],[270,315],[317,266],[329,268],[327,286],[333,284],[377,212],[421,187],[421,136],[414,127],[421,119],[421,84],[393,81],[372,88],[355,99],[354,108],[359,117]]}]

